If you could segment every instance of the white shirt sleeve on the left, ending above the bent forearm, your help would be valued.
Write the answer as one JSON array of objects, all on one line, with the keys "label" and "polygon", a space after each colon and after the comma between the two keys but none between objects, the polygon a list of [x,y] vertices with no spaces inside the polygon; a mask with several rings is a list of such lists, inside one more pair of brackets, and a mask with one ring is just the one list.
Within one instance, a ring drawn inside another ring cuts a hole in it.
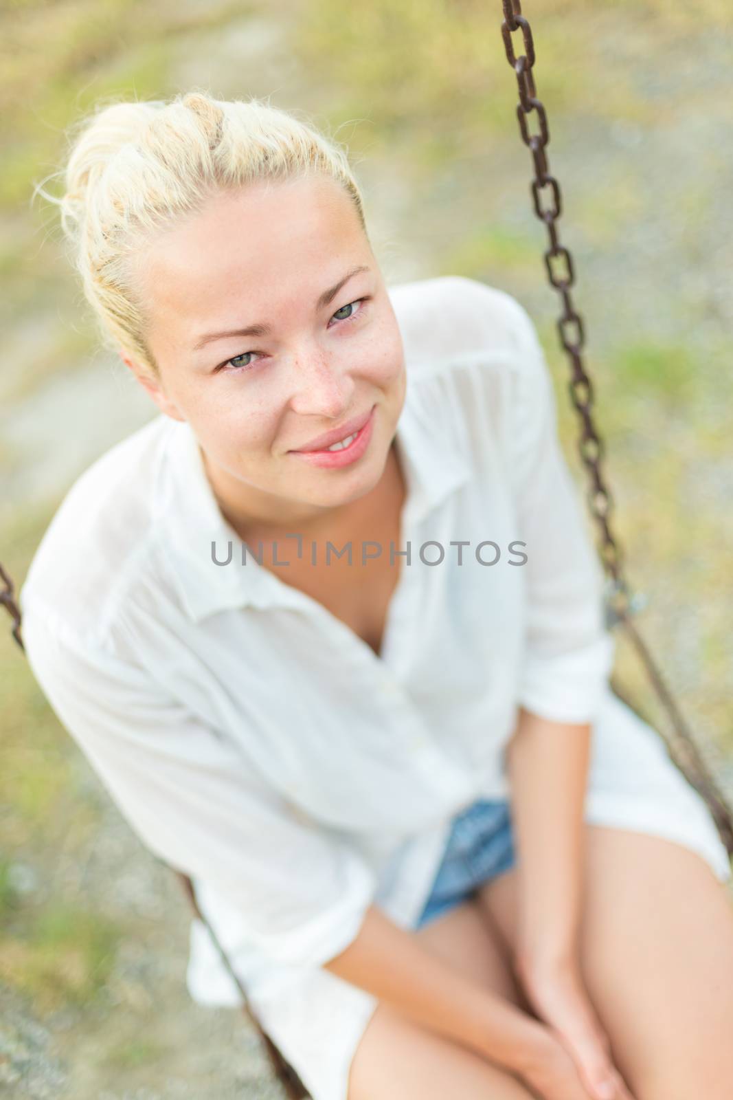
[{"label": "white shirt sleeve on the left, ending above the bent forearm", "polygon": [[256,948],[318,967],[356,937],[376,890],[356,848],[296,816],[144,669],[78,645],[27,601],[23,640],[52,708],[143,844],[234,906]]}]

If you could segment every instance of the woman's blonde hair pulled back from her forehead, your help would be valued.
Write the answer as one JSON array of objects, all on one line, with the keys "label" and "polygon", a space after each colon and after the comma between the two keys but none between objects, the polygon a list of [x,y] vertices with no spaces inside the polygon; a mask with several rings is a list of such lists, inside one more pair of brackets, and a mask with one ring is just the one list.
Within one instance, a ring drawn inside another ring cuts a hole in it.
[{"label": "woman's blonde hair pulled back from her forehead", "polygon": [[366,234],[345,150],[266,100],[219,100],[195,90],[170,100],[113,102],[77,123],[71,139],[62,169],[66,194],[58,199],[41,187],[34,194],[60,208],[102,343],[154,375],[132,262],[156,231],[216,191],[320,174],[344,188]]}]

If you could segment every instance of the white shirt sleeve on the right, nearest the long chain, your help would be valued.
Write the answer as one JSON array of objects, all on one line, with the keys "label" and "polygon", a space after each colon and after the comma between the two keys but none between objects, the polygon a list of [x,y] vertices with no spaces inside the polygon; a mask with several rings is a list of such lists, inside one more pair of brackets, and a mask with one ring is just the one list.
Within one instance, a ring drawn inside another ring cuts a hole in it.
[{"label": "white shirt sleeve on the right, nearest the long chain", "polygon": [[507,296],[518,355],[510,477],[526,542],[525,654],[519,703],[555,722],[598,715],[615,642],[606,626],[603,571],[557,435],[553,381],[525,309]]}]

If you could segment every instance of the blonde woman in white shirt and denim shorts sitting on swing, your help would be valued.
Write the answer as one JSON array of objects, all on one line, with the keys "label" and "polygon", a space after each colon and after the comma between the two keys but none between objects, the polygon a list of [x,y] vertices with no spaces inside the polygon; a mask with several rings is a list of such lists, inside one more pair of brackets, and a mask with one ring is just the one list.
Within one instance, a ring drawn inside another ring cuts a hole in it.
[{"label": "blonde woman in white shirt and denim shorts sitting on swing", "polygon": [[[159,415],[54,517],[26,651],[314,1100],[729,1097],[730,865],[609,689],[525,311],[388,289],[345,153],[257,100],[107,107],[66,183]],[[198,922],[188,981],[236,1003]]]}]

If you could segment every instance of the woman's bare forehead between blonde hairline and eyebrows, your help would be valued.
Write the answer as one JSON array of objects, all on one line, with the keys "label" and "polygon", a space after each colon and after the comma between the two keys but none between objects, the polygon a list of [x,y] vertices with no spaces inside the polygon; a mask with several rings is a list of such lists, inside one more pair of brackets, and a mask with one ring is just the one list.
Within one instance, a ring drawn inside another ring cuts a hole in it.
[{"label": "woman's bare forehead between blonde hairline and eyebrows", "polygon": [[153,241],[137,277],[153,327],[175,319],[192,331],[216,318],[260,320],[260,302],[271,309],[273,301],[309,301],[309,293],[315,300],[329,275],[333,283],[343,274],[344,257],[364,254],[348,195],[332,179],[310,177],[218,194]]}]

